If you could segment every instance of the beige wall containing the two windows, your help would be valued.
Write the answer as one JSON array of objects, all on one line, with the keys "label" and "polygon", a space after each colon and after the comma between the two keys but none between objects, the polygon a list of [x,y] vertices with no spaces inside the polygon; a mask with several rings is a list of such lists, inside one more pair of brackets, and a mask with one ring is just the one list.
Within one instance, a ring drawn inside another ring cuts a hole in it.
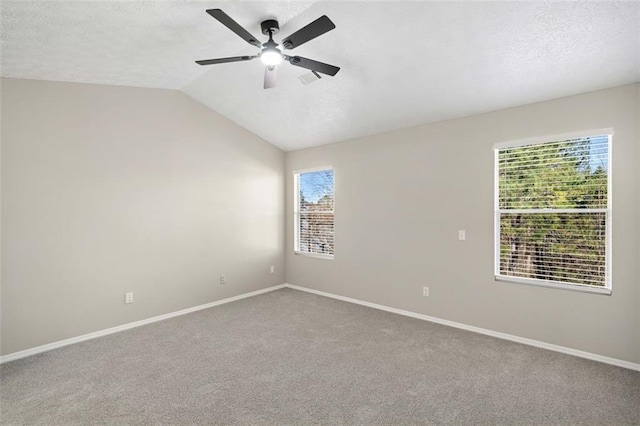
[{"label": "beige wall containing the two windows", "polygon": [[[640,362],[639,93],[623,86],[287,153],[287,282]],[[494,281],[493,144],[609,127],[613,294]],[[325,165],[335,168],[335,259],[295,256],[291,172]]]}]

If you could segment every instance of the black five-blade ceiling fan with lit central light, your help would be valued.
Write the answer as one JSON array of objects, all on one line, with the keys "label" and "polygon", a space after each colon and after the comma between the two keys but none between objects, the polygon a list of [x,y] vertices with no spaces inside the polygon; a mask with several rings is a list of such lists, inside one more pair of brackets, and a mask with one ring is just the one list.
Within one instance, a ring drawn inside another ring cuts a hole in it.
[{"label": "black five-blade ceiling fan with lit central light", "polygon": [[311,70],[316,77],[320,78],[318,73],[334,76],[340,71],[339,67],[325,64],[323,62],[314,61],[312,59],[303,58],[302,56],[289,56],[282,53],[282,49],[295,49],[302,44],[313,40],[314,38],[321,36],[322,34],[331,31],[336,26],[331,19],[326,15],[321,16],[312,23],[305,27],[302,27],[295,33],[282,41],[282,45],[279,45],[273,41],[273,35],[278,34],[280,26],[275,19],[268,19],[263,21],[260,26],[262,28],[262,34],[268,35],[269,40],[264,43],[260,43],[254,36],[252,36],[247,30],[240,26],[236,21],[231,19],[229,15],[224,13],[220,9],[209,9],[207,13],[220,21],[222,25],[229,28],[236,33],[247,43],[256,46],[261,51],[257,55],[253,56],[233,56],[231,58],[218,58],[218,59],[205,59],[202,61],[196,61],[198,65],[214,65],[224,64],[226,62],[240,62],[250,61],[255,58],[260,58],[262,63],[265,64],[264,71],[264,88],[270,89],[276,86],[277,66],[283,61],[289,62],[296,67],[306,68]]}]

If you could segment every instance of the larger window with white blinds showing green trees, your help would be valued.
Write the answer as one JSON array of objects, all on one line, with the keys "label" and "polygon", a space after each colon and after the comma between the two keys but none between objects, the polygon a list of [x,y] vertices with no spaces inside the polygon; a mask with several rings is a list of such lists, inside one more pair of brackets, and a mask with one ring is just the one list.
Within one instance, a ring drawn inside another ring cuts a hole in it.
[{"label": "larger window with white blinds showing green trees", "polygon": [[611,132],[586,134],[496,145],[496,279],[611,293]]}]

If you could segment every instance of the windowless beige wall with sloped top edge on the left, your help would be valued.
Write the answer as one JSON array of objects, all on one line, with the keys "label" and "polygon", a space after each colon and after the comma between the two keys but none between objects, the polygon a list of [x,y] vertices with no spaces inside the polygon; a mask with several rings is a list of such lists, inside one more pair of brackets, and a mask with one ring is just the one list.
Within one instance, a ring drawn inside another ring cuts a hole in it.
[{"label": "windowless beige wall with sloped top edge on the left", "polygon": [[283,283],[283,168],[178,91],[4,79],[1,353]]}]

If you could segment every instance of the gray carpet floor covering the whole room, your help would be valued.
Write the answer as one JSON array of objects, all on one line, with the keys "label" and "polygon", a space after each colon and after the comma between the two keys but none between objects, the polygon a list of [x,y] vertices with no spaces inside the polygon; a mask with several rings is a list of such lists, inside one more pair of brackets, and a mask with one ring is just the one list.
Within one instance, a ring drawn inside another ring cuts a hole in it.
[{"label": "gray carpet floor covering the whole room", "polygon": [[640,372],[291,289],[0,379],[6,425],[640,425]]}]

